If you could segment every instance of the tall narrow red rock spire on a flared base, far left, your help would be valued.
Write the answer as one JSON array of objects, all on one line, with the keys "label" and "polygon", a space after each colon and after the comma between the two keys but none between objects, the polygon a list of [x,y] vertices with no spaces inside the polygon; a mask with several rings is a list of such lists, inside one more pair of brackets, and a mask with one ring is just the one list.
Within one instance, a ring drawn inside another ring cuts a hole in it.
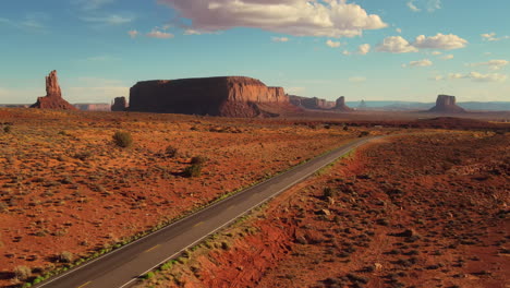
[{"label": "tall narrow red rock spire on a flared base, far left", "polygon": [[57,71],[54,70],[46,76],[46,96],[37,97],[37,101],[32,105],[31,108],[77,110],[76,107],[62,98],[59,79],[57,77]]}]

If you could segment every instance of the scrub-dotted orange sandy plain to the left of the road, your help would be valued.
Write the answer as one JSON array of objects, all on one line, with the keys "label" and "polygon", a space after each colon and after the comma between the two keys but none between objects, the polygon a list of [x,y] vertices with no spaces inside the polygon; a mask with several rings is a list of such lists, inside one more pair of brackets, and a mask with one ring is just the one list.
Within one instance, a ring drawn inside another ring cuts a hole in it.
[{"label": "scrub-dotted orange sandy plain to the left of the road", "polygon": [[[0,109],[0,286],[17,284],[16,267],[34,278],[89,256],[366,130],[34,109]],[[117,131],[134,145],[116,146]],[[169,145],[178,156],[166,155]],[[207,160],[201,177],[186,178],[194,156]]]}]

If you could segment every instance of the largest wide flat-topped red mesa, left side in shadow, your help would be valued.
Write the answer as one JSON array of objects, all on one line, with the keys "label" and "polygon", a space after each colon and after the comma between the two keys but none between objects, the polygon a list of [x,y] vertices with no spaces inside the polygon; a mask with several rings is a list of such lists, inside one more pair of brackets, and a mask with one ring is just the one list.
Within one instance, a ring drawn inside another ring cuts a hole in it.
[{"label": "largest wide flat-topped red mesa, left side in shadow", "polygon": [[288,104],[281,87],[242,76],[138,82],[130,91],[130,111],[256,117],[257,104]]}]

